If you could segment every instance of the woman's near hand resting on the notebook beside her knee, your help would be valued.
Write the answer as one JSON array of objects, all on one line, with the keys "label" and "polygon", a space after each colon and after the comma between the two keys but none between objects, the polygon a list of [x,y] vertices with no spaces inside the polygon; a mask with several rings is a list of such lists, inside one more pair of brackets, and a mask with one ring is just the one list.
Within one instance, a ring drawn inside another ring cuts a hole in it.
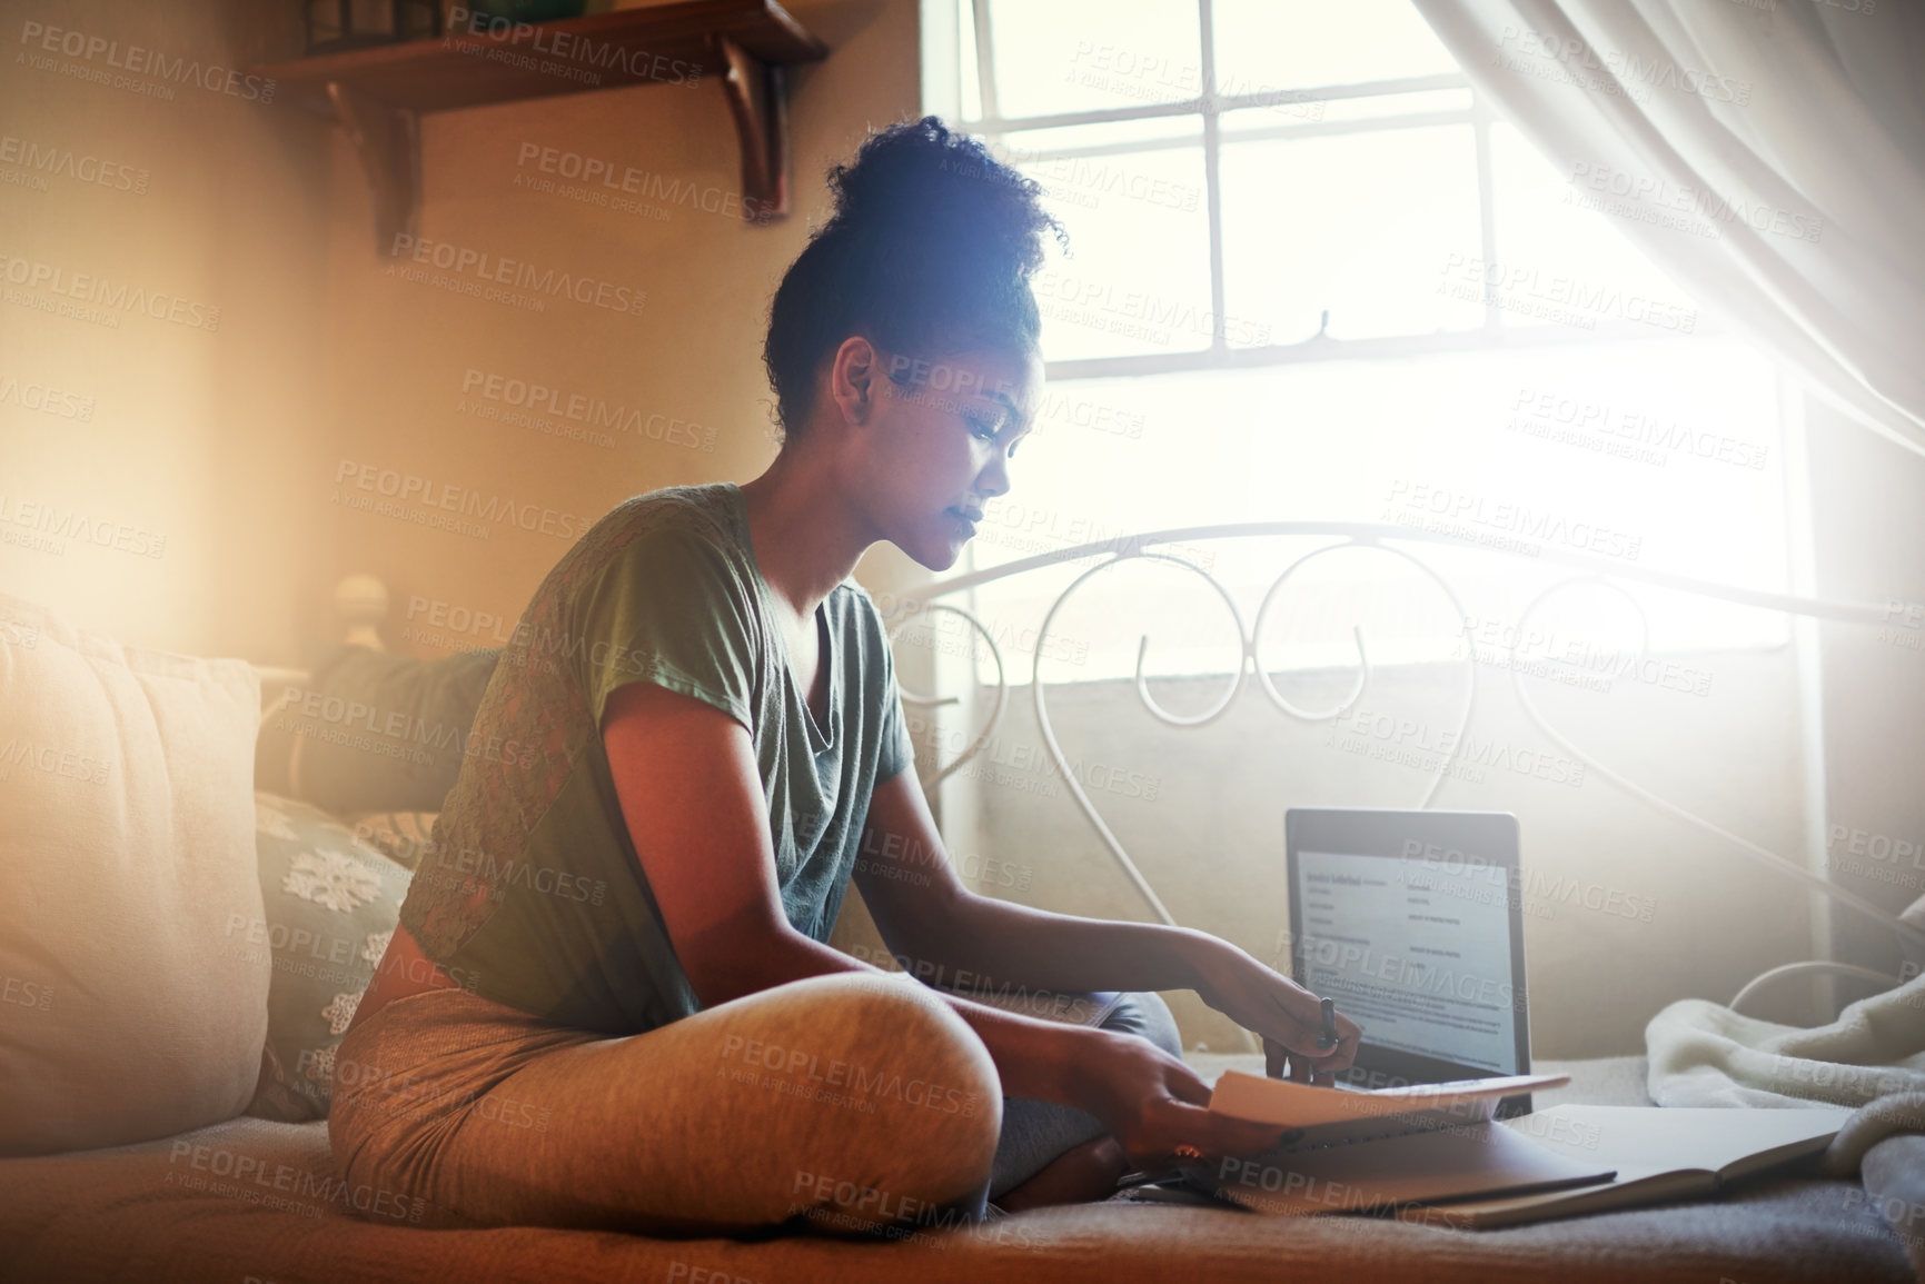
[{"label": "woman's near hand resting on the notebook beside her knee", "polygon": [[[1090,1030],[1080,1043],[1076,1095],[1109,1126],[1138,1168],[1168,1165],[1188,1147],[1201,1155],[1261,1155],[1284,1128],[1209,1113],[1209,1084],[1134,1034]],[[1195,1155],[1188,1155],[1195,1159]]]}]

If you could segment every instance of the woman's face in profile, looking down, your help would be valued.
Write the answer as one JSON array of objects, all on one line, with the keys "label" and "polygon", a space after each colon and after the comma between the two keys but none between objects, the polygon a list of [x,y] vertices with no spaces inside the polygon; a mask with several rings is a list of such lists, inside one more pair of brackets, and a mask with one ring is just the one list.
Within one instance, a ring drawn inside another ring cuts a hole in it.
[{"label": "woman's face in profile, looking down", "polygon": [[876,352],[862,489],[884,539],[947,570],[988,501],[1009,491],[1009,462],[1030,431],[1043,385],[1034,352],[916,358]]}]

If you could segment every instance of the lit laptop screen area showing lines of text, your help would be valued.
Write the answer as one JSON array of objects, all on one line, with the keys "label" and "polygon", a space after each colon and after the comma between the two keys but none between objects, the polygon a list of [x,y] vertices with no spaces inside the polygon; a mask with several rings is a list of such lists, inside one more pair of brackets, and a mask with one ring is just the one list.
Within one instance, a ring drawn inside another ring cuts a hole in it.
[{"label": "lit laptop screen area showing lines of text", "polygon": [[1509,876],[1502,866],[1297,853],[1303,984],[1363,1038],[1517,1074]]}]

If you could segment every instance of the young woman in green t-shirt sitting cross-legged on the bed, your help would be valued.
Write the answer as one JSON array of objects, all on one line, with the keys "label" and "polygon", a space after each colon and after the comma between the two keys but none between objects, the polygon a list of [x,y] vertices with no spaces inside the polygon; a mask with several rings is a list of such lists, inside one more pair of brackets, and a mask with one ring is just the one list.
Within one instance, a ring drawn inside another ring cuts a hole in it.
[{"label": "young woman in green t-shirt sitting cross-legged on the bed", "polygon": [[[1055,221],[936,117],[830,183],[770,310],[776,462],[618,504],[535,591],[475,718],[504,751],[462,766],[337,1049],[346,1182],[427,1222],[874,1230],[1274,1145],[1207,1113],[1157,989],[1272,1072],[1355,1053],[1217,937],[955,878],[851,572],[884,539],[947,570],[1009,489]],[[1130,1001],[1080,1028],[891,978],[824,943],[851,876],[914,974]]]}]

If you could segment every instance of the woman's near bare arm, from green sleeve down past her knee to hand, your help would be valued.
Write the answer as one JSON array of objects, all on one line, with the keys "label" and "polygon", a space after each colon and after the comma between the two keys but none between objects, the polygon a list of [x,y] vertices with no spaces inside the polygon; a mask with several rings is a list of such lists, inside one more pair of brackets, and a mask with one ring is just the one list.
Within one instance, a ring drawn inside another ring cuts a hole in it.
[{"label": "woman's near bare arm, from green sleeve down past her knee to hand", "polygon": [[[635,855],[703,1007],[805,976],[878,970],[783,914],[747,728],[703,701],[631,681],[608,697],[603,743]],[[989,1049],[1005,1095],[1086,1107],[1132,1155],[1168,1155],[1180,1143],[1247,1155],[1276,1143],[1280,1128],[1201,1109],[1209,1088],[1143,1040],[945,999]]]}]

